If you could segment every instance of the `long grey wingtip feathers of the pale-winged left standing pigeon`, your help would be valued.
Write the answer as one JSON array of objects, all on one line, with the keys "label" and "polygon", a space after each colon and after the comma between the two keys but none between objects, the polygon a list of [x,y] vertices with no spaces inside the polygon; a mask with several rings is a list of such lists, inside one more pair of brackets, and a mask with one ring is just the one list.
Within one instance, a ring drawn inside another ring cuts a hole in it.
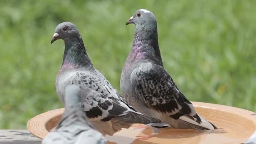
[{"label": "long grey wingtip feathers of the pale-winged left standing pigeon", "polygon": [[148,117],[139,112],[128,112],[128,114],[112,118],[113,122],[117,123],[141,123],[141,124],[149,124],[149,123],[162,123],[161,120],[155,117]]}]

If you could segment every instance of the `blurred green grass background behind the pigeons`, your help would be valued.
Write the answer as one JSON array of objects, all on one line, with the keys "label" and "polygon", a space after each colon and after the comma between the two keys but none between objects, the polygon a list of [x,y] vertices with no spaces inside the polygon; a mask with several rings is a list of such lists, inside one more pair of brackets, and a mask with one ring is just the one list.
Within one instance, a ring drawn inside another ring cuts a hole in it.
[{"label": "blurred green grass background behind the pigeons", "polygon": [[75,23],[94,66],[120,90],[139,8],[155,13],[165,69],[190,101],[256,111],[256,1],[1,0],[0,128],[62,107],[55,91],[64,43],[57,24]]}]

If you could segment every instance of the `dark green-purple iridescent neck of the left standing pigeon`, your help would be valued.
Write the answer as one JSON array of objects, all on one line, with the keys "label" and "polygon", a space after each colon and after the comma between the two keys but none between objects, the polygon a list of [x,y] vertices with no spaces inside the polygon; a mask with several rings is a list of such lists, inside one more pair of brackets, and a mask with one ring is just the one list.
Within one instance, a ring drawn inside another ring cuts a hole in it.
[{"label": "dark green-purple iridescent neck of the left standing pigeon", "polygon": [[91,67],[92,63],[89,59],[82,37],[67,37],[64,39],[65,50],[62,61],[62,67]]}]

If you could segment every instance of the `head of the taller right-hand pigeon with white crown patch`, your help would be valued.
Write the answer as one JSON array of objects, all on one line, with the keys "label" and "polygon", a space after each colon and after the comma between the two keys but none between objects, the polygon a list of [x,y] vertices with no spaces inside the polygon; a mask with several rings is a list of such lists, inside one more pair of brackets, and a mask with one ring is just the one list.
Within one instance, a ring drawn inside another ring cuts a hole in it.
[{"label": "head of the taller right-hand pigeon with white crown patch", "polygon": [[156,24],[156,19],[151,11],[145,9],[137,10],[134,15],[126,22],[125,25],[135,24],[136,27],[145,27],[148,25]]}]

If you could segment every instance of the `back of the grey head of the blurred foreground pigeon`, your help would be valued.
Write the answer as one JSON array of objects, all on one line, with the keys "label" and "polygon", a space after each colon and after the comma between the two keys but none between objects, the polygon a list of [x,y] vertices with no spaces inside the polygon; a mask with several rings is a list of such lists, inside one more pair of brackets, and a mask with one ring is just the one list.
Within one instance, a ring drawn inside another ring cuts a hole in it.
[{"label": "back of the grey head of the blurred foreground pigeon", "polygon": [[65,107],[82,107],[81,92],[77,85],[68,85],[65,89]]}]

